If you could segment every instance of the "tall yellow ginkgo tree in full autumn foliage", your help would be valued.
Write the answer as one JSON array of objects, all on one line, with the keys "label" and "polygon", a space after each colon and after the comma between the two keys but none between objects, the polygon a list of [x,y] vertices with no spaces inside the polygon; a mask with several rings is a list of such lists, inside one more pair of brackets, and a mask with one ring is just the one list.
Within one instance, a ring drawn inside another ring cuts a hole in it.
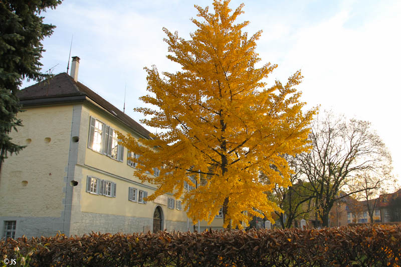
[{"label": "tall yellow ginkgo tree in full autumn foliage", "polygon": [[[261,31],[248,38],[242,30],[249,22],[235,24],[243,5],[232,12],[229,2],[215,0],[214,13],[195,6],[203,20],[192,19],[198,29],[190,40],[163,29],[167,58],[181,71],[160,75],[154,66],[145,68],[151,94],[140,99],[157,108],[135,109],[151,115],[142,123],[163,130],[149,140],[120,138],[140,155],[130,158],[137,163],[134,174],[157,186],[148,200],[172,192],[184,197],[193,222],[211,222],[223,207],[224,227],[242,227],[253,215],[270,218],[280,210],[265,192],[290,185],[283,155],[307,149],[315,110],[301,111],[305,103],[294,89],[300,72],[267,88],[277,65],[257,68]],[[151,175],[155,168],[157,176]],[[188,184],[193,190],[185,189]]]}]

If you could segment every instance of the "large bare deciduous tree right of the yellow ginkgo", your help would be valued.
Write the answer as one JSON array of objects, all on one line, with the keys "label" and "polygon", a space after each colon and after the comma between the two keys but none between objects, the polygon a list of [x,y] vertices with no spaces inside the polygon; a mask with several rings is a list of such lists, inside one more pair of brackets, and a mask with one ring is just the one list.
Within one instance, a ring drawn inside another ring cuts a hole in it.
[{"label": "large bare deciduous tree right of the yellow ginkgo", "polygon": [[[357,175],[363,171],[385,175],[382,172],[385,166],[391,166],[391,157],[369,122],[347,120],[332,112],[324,112],[315,118],[309,139],[313,149],[298,158],[310,183],[310,194],[316,197],[318,215],[323,226],[328,226],[334,202],[363,191],[350,187]],[[347,193],[340,195],[340,190]]]}]

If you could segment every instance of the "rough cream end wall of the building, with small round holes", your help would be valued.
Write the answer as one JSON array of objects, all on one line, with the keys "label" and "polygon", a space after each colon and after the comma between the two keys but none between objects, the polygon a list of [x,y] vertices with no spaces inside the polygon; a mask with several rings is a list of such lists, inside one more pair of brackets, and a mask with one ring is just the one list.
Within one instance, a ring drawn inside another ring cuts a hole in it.
[{"label": "rough cream end wall of the building, with small round holes", "polygon": [[69,105],[24,109],[18,113],[24,126],[11,136],[27,147],[2,166],[0,216],[60,217],[73,109]]}]

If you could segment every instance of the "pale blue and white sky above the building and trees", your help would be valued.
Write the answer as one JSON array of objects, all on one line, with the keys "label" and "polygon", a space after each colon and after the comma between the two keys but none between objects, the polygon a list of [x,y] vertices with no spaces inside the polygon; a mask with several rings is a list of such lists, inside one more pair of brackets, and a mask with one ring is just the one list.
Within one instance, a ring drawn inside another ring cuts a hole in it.
[{"label": "pale blue and white sky above the building and trees", "polygon": [[[368,120],[389,148],[394,174],[401,176],[401,1],[237,1],[245,3],[249,34],[263,30],[257,52],[262,62],[278,64],[271,76],[286,79],[301,69],[298,87],[309,107],[333,109]],[[209,1],[74,1],[66,0],[43,13],[57,26],[44,40],[43,69],[57,74],[71,56],[81,58],[78,80],[122,110],[127,84],[126,113],[139,121],[138,97],[146,94],[143,67],[178,70],[165,58],[162,27],[188,38],[195,30],[193,5]],[[24,83],[24,87],[32,84]],[[151,130],[151,129],[150,129]]]}]

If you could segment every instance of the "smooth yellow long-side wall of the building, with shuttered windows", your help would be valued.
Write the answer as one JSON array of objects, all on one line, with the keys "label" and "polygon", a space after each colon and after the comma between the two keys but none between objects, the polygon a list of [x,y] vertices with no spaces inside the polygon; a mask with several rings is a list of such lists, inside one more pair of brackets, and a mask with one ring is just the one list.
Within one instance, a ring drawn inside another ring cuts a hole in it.
[{"label": "smooth yellow long-side wall of the building, with shuttered windows", "polygon": [[[83,116],[87,116],[86,119],[81,119],[81,128],[86,129],[86,152],[85,152],[85,166],[82,173],[82,183],[81,187],[81,211],[82,212],[94,212],[94,213],[108,213],[115,215],[124,216],[134,216],[134,217],[147,217],[153,218],[153,212],[157,205],[153,201],[147,201],[146,204],[141,204],[137,202],[132,202],[128,200],[129,187],[135,187],[138,190],[147,191],[148,195],[151,195],[156,189],[154,185],[145,182],[140,184],[140,180],[134,176],[135,168],[127,164],[127,154],[128,151],[124,147],[124,158],[123,162],[117,161],[106,155],[100,154],[92,149],[88,148],[89,139],[89,117],[92,116],[97,120],[105,123],[106,125],[112,127],[113,129],[126,135],[130,132],[131,135],[138,137],[132,131],[130,131],[126,126],[119,123],[111,115],[107,115],[104,112],[99,112],[90,106],[84,106]],[[86,177],[93,176],[100,179],[112,181],[116,183],[116,197],[107,197],[102,195],[95,195],[86,192]],[[117,176],[117,177],[116,177]],[[130,181],[125,181],[119,179],[122,177]],[[153,189],[152,189],[153,188]],[[167,197],[172,197],[171,195],[166,195]],[[169,209],[167,205],[160,205],[163,210],[163,215],[165,220],[173,221],[185,221],[186,213],[184,210]],[[183,206],[182,206],[183,207]]]}]

